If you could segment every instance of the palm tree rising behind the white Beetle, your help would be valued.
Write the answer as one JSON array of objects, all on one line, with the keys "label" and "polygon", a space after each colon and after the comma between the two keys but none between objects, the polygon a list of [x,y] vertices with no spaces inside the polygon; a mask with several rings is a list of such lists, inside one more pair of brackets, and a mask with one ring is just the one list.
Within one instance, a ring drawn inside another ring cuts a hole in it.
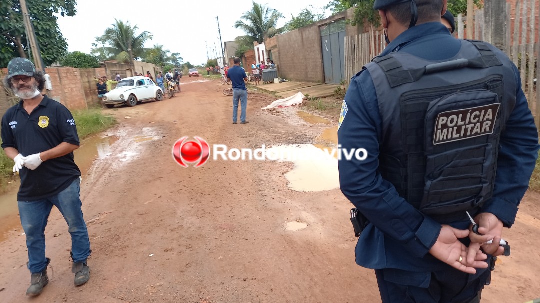
[{"label": "palm tree rising behind the white Beetle", "polygon": [[[104,49],[114,56],[126,52],[131,61],[142,57],[145,52],[144,43],[152,39],[152,33],[144,31],[136,36],[136,31],[139,29],[137,25],[131,27],[129,21],[124,23],[122,20],[114,20],[116,23],[111,24],[112,27],[106,29],[104,35],[98,38],[111,46]],[[121,57],[125,57],[124,54]]]}]

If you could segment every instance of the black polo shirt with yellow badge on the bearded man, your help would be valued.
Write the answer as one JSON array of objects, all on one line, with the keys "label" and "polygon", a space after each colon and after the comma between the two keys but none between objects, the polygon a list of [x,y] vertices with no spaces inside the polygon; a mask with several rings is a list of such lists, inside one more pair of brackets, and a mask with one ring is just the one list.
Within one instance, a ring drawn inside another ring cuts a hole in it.
[{"label": "black polo shirt with yellow badge on the bearded man", "polygon": [[[2,148],[14,147],[23,156],[37,154],[62,142],[80,145],[75,120],[68,108],[44,95],[29,115],[23,102],[2,118]],[[23,167],[18,201],[35,201],[58,194],[80,176],[73,152],[43,162],[37,169]]]}]

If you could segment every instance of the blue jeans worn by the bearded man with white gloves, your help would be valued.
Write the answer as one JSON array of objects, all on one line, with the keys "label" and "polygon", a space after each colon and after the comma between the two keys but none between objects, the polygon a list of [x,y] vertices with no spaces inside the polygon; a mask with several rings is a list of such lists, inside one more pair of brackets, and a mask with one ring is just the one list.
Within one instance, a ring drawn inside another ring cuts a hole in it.
[{"label": "blue jeans worn by the bearded man with white gloves", "polygon": [[80,201],[80,179],[77,177],[68,188],[57,195],[36,201],[19,201],[21,223],[26,233],[28,247],[28,269],[32,273],[42,272],[47,265],[45,258],[45,226],[52,206],[55,205],[69,225],[71,251],[74,262],[86,263],[90,256],[90,238],[84,222]]}]

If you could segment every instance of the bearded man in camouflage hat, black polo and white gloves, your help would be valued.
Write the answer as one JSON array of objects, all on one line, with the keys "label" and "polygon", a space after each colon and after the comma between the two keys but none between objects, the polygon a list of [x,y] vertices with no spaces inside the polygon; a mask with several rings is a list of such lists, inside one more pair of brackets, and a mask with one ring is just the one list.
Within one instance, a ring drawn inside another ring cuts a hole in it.
[{"label": "bearded man in camouflage hat, black polo and white gloves", "polygon": [[40,294],[49,283],[45,226],[53,205],[69,225],[75,285],[90,279],[86,259],[92,250],[81,210],[80,170],[73,159],[79,148],[77,127],[68,108],[40,93],[44,85],[43,73],[30,60],[10,61],[4,86],[22,100],[2,118],[2,148],[15,161],[14,173],[21,175],[17,200],[32,273],[28,295]]}]

